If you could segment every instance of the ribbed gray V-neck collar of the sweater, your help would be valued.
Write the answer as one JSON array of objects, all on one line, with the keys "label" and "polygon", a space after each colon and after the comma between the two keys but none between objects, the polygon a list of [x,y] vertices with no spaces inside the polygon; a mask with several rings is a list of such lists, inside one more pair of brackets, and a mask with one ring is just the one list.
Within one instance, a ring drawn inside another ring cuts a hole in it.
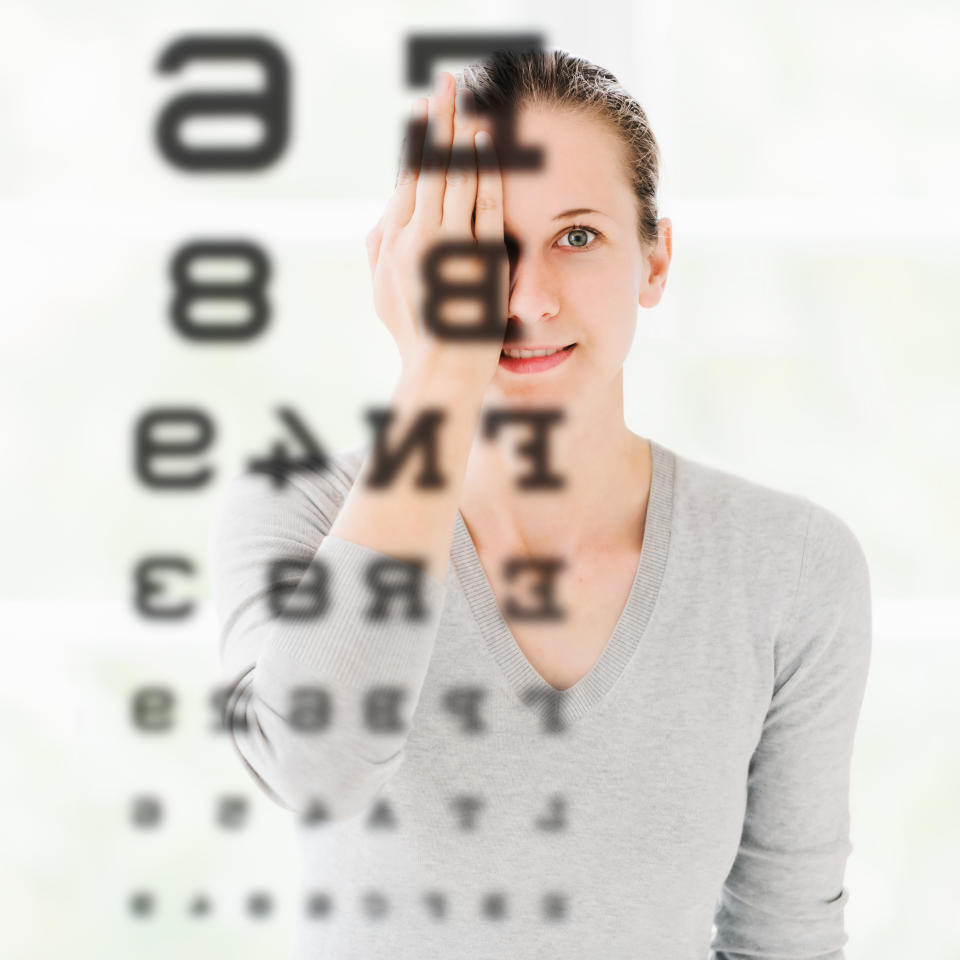
[{"label": "ribbed gray V-neck collar of the sweater", "polygon": [[487,647],[507,683],[523,703],[533,709],[542,709],[552,701],[552,710],[563,722],[582,717],[606,696],[623,674],[646,631],[660,591],[670,546],[676,457],[673,451],[656,441],[649,440],[649,443],[650,494],[633,585],[599,659],[585,676],[566,690],[557,690],[547,683],[520,649],[500,611],[463,516],[457,510],[450,554]]}]

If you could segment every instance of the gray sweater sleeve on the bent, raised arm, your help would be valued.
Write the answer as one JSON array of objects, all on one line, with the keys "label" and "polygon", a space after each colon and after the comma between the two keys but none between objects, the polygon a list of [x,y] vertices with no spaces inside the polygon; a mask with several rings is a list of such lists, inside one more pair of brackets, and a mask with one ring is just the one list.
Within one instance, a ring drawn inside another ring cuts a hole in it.
[{"label": "gray sweater sleeve on the bent, raised arm", "polygon": [[403,764],[445,594],[415,563],[327,536],[347,462],[279,488],[234,476],[207,541],[229,736],[271,799],[298,813],[319,802],[332,820],[366,809]]}]

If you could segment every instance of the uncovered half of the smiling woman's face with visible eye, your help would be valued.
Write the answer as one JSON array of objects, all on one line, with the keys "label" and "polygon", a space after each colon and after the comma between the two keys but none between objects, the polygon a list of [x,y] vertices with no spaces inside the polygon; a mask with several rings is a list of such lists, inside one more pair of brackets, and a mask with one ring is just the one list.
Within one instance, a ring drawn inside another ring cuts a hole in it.
[{"label": "uncovered half of the smiling woman's face with visible eye", "polygon": [[[488,126],[488,129],[492,127]],[[639,304],[660,298],[669,239],[643,250],[624,147],[602,120],[569,110],[525,107],[514,140],[539,146],[543,164],[504,170],[504,239],[510,254],[505,347],[575,346],[559,363],[500,356],[488,388],[511,401],[557,405],[618,377],[633,341]],[[661,221],[661,233],[669,221]],[[524,369],[526,368],[526,369]]]}]

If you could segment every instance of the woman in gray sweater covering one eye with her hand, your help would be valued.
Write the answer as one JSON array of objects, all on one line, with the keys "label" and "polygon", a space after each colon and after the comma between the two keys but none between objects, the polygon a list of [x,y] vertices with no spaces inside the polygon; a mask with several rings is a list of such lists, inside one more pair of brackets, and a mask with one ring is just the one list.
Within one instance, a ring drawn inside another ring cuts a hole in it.
[{"label": "woman in gray sweater covering one eye with her hand", "polygon": [[[392,419],[279,492],[235,478],[211,538],[233,740],[304,814],[295,956],[842,957],[860,545],[806,497],[627,429],[623,361],[671,233],[616,78],[527,51],[460,85],[472,103],[441,73],[415,104],[422,162],[368,238]],[[540,166],[475,139],[502,107]],[[462,240],[506,248],[496,340],[423,322],[424,258]],[[537,469],[560,484],[524,486]]]}]

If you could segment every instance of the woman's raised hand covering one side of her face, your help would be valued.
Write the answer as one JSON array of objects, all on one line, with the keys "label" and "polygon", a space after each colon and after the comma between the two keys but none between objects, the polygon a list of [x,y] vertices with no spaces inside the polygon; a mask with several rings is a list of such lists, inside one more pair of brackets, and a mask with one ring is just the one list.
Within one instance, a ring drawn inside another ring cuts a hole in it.
[{"label": "woman's raised hand covering one side of her face", "polygon": [[[495,340],[448,340],[427,329],[423,320],[428,291],[422,264],[435,246],[464,240],[503,243],[503,190],[490,125],[470,110],[455,110],[455,91],[453,75],[441,72],[429,103],[424,98],[415,102],[413,119],[422,122],[426,116],[426,143],[432,149],[424,149],[421,137],[420,142],[404,150],[396,191],[367,234],[366,245],[374,307],[397,343],[404,375],[449,375],[458,386],[482,395],[497,370],[502,332]],[[474,140],[477,131],[486,132],[486,144],[483,134]],[[460,151],[472,150],[475,145],[481,157],[484,150],[489,151],[490,162],[479,171],[476,163],[447,169],[451,141]],[[408,166],[408,156],[419,162]],[[474,208],[476,223],[471,226]],[[450,257],[441,262],[439,273],[454,282],[475,283],[484,276],[483,262],[479,257]],[[500,283],[505,330],[509,283],[506,248]],[[479,298],[451,299],[439,307],[443,321],[450,325],[479,325],[482,311]]]}]

